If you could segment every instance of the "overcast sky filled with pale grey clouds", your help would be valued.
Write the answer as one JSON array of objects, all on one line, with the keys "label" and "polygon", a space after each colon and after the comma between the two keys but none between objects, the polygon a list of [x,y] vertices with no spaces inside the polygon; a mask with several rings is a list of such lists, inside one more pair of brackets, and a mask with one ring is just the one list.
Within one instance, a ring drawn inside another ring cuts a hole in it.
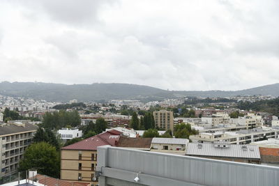
[{"label": "overcast sky filled with pale grey clouds", "polygon": [[279,1],[0,0],[0,82],[279,82]]}]

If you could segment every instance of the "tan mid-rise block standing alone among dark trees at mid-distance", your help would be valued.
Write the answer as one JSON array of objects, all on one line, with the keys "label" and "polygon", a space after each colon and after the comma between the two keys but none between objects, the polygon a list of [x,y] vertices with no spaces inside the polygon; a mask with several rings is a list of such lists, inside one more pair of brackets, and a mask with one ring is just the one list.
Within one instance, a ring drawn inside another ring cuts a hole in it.
[{"label": "tan mid-rise block standing alone among dark trees at mid-distance", "polygon": [[174,114],[172,111],[153,111],[155,126],[165,130],[174,130]]}]

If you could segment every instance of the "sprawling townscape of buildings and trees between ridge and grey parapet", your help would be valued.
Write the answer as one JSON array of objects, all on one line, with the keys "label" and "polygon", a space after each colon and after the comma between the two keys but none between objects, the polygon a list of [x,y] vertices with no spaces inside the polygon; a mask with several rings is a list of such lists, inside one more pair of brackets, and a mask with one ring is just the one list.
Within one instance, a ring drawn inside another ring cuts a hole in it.
[{"label": "sprawling townscape of buildings and trees between ridge and grey parapet", "polygon": [[[279,162],[278,113],[252,110],[258,102],[278,100],[270,96],[146,103],[0,98],[2,183],[36,169],[42,179],[98,185],[99,146],[269,166]],[[241,109],[248,103],[250,109]]]}]

